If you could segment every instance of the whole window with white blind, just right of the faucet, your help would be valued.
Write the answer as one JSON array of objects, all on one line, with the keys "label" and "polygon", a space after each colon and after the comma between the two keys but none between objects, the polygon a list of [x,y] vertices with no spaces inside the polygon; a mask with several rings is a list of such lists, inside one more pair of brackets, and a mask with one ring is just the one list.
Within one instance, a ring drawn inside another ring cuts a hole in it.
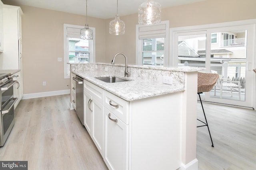
[{"label": "whole window with white blind, just right of the faucet", "polygon": [[168,65],[169,21],[157,25],[136,25],[136,64]]}]

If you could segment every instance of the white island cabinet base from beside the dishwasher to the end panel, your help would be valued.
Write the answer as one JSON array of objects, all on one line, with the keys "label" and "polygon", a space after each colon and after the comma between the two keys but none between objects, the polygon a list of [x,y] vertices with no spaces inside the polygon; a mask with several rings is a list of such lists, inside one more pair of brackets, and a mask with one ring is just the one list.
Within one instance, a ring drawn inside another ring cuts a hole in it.
[{"label": "white island cabinet base from beside the dishwasher to the end panel", "polygon": [[84,101],[84,125],[110,170],[180,167],[182,92],[128,102],[85,80]]}]

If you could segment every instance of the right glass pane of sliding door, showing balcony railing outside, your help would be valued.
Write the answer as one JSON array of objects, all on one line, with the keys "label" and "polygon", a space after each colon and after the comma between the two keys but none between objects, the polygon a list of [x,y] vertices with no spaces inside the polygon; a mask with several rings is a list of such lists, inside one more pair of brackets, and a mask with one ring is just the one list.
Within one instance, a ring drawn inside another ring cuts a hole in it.
[{"label": "right glass pane of sliding door, showing balcony railing outside", "polygon": [[220,82],[210,97],[245,101],[247,32],[216,34],[219,41],[211,44],[211,70],[219,74]]}]

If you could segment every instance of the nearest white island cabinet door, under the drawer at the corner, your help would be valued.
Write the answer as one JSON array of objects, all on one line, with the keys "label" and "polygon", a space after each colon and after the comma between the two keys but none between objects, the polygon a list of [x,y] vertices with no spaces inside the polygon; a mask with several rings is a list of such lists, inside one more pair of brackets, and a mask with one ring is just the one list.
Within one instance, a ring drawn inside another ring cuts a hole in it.
[{"label": "nearest white island cabinet door, under the drawer at the corner", "polygon": [[128,170],[128,125],[104,108],[104,161],[110,170]]}]

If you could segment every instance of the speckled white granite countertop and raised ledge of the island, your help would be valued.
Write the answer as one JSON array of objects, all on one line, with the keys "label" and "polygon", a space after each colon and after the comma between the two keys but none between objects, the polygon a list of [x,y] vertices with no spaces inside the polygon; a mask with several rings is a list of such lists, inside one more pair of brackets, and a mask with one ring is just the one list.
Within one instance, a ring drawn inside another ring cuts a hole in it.
[{"label": "speckled white granite countertop and raised ledge of the island", "polygon": [[[106,68],[108,68],[107,72]],[[71,64],[70,69],[72,73],[84,78],[84,80],[126,101],[183,91],[185,90],[185,72],[202,70],[198,67],[152,68],[128,65],[130,74],[125,78],[123,75],[124,66],[121,64]],[[173,77],[172,85],[162,83],[163,75]],[[107,83],[95,78],[104,76],[116,76],[130,81]]]}]

